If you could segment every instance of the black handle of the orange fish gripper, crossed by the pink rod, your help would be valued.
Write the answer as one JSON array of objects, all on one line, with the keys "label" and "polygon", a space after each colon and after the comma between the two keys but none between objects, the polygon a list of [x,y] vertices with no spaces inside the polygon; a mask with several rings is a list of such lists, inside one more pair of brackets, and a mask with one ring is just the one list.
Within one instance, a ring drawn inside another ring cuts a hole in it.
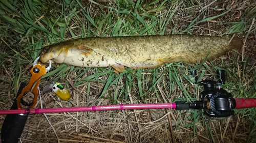
[{"label": "black handle of the orange fish gripper, crossed by the pink rod", "polygon": [[[26,83],[20,83],[17,95],[26,87]],[[17,109],[16,100],[13,102],[11,109]],[[5,117],[1,128],[2,143],[16,143],[22,135],[23,129],[26,125],[28,114],[13,114]]]}]

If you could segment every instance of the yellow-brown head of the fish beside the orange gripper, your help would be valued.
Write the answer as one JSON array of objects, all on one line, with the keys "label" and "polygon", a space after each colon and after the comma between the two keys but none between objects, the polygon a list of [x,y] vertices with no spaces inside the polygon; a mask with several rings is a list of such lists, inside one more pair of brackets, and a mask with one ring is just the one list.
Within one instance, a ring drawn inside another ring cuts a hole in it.
[{"label": "yellow-brown head of the fish beside the orange gripper", "polygon": [[40,56],[40,62],[46,63],[49,60],[52,60],[56,63],[63,63],[67,57],[69,49],[73,46],[74,42],[72,41],[65,41],[45,46],[41,49],[42,55]]}]

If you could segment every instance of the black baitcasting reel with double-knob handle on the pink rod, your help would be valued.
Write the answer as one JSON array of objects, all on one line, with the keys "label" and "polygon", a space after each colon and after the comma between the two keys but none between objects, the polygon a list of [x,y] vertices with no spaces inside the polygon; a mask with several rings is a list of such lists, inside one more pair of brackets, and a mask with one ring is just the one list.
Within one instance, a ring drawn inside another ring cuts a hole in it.
[{"label": "black baitcasting reel with double-knob handle on the pink rod", "polygon": [[[193,71],[192,75],[197,81],[197,71]],[[236,108],[236,101],[232,95],[222,88],[222,84],[226,81],[225,71],[217,70],[218,81],[206,79],[196,82],[203,85],[204,91],[200,93],[200,101],[185,103],[183,101],[176,103],[176,109],[204,109],[206,116],[210,118],[228,117],[234,114],[233,109]]]}]

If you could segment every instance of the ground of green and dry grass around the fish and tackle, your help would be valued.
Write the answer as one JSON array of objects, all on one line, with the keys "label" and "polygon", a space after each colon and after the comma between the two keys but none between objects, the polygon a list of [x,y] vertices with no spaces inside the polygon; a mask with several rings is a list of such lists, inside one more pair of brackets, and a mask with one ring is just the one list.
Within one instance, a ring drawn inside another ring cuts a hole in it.
[{"label": "ground of green and dry grass around the fish and tackle", "polygon": [[[256,4],[254,1],[0,1],[0,108],[10,109],[20,82],[28,82],[32,62],[44,46],[95,36],[245,33],[241,49],[196,64],[170,63],[154,69],[84,68],[54,63],[40,82],[34,108],[164,103],[198,99],[191,81],[217,79],[234,97],[256,96]],[[60,82],[71,93],[58,99],[42,88]],[[2,126],[5,116],[0,116]],[[169,122],[170,120],[171,122]],[[202,110],[152,109],[29,115],[20,142],[255,142],[255,109],[209,119]],[[170,124],[171,123],[171,124]],[[173,131],[170,130],[172,126]]]}]

